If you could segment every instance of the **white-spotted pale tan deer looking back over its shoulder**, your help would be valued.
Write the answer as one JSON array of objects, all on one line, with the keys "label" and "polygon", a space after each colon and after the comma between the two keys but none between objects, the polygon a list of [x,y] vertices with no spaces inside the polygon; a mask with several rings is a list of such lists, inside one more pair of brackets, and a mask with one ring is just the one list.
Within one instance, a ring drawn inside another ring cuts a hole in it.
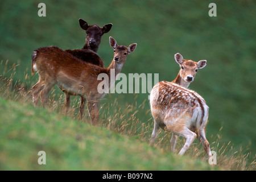
[{"label": "white-spotted pale tan deer looking back over its shoulder", "polygon": [[205,137],[205,127],[208,122],[208,110],[203,97],[193,90],[187,89],[195,78],[197,69],[204,68],[206,60],[198,63],[184,60],[177,53],[175,60],[180,64],[177,78],[172,82],[161,81],[150,93],[151,113],[154,118],[154,130],[150,144],[158,134],[160,127],[172,131],[171,146],[175,150],[177,136],[184,137],[186,142],[179,154],[183,155],[197,137],[204,146],[205,152],[211,156],[209,142]]}]

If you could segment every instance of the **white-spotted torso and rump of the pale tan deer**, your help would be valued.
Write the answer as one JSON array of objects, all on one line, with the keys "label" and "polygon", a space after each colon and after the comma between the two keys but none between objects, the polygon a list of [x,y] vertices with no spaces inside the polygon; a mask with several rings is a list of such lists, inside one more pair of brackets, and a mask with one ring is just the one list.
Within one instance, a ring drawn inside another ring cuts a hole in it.
[{"label": "white-spotted torso and rump of the pale tan deer", "polygon": [[199,94],[173,82],[156,84],[150,94],[150,105],[154,119],[159,122],[177,122],[179,119],[201,122],[208,115],[208,106]]}]

